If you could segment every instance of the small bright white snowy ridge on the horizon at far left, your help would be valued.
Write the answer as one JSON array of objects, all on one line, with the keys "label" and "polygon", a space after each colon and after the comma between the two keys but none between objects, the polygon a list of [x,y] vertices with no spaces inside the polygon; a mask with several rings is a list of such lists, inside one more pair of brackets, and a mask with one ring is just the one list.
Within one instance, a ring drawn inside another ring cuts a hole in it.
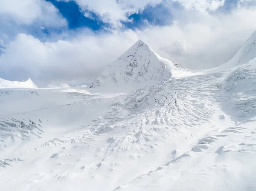
[{"label": "small bright white snowy ridge on the horizon at far left", "polygon": [[25,82],[9,81],[0,78],[0,88],[38,88],[29,78]]}]

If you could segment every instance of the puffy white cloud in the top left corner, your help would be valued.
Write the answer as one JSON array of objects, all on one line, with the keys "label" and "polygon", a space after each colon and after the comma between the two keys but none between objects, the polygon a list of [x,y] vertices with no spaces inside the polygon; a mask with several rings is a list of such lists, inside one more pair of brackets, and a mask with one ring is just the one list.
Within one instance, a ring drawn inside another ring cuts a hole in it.
[{"label": "puffy white cloud in the top left corner", "polygon": [[45,0],[0,0],[0,41],[3,44],[19,33],[65,26],[67,20]]}]

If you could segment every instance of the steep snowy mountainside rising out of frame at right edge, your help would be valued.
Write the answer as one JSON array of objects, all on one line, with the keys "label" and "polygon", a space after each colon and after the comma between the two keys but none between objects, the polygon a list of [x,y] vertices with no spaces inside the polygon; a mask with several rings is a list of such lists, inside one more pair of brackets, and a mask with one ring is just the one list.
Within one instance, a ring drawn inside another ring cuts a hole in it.
[{"label": "steep snowy mountainside rising out of frame at right edge", "polygon": [[256,31],[249,37],[244,45],[239,49],[236,55],[225,65],[230,67],[239,66],[248,63],[256,57]]}]

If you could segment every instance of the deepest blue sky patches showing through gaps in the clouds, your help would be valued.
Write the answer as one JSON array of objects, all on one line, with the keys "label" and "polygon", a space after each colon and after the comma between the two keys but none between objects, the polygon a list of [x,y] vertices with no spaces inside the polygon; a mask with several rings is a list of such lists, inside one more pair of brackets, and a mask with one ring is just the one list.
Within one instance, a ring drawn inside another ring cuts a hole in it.
[{"label": "deepest blue sky patches showing through gaps in the clouds", "polygon": [[[93,31],[102,30],[105,27],[110,27],[108,24],[103,23],[100,18],[93,11],[89,11],[93,18],[85,17],[81,8],[75,1],[57,1],[47,0],[51,2],[56,8],[59,9],[61,15],[68,21],[69,29],[78,29],[81,27],[88,27]],[[88,11],[88,10],[87,10]],[[161,15],[160,15],[161,13]],[[145,21],[154,25],[166,25],[170,24],[166,22],[165,17],[171,16],[171,12],[167,9],[163,3],[159,3],[154,6],[146,6],[143,11],[131,14],[128,18],[132,19],[133,22],[122,22],[124,28],[136,29],[141,28],[145,25]]]}]

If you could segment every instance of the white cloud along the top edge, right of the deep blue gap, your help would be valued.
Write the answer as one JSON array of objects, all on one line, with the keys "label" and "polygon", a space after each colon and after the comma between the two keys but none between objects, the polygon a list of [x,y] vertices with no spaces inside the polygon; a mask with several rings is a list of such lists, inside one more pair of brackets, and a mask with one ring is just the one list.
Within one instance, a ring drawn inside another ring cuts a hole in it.
[{"label": "white cloud along the top edge, right of the deep blue gap", "polygon": [[[61,0],[59,0],[61,1]],[[62,0],[70,1],[70,0]],[[88,11],[96,13],[104,23],[111,24],[112,27],[122,26],[121,21],[130,21],[131,14],[143,11],[146,6],[156,6],[163,3],[171,6],[172,2],[180,3],[186,10],[196,10],[202,13],[215,11],[223,6],[226,0],[75,0],[85,12],[85,16],[90,16]]]}]

